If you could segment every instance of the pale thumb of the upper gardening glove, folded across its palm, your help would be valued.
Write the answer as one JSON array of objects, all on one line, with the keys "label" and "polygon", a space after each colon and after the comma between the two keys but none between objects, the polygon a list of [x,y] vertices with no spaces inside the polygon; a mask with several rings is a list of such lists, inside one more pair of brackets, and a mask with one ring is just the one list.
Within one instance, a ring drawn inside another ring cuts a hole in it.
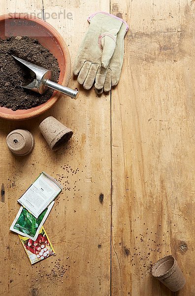
[{"label": "pale thumb of the upper gardening glove, folded across its palm", "polygon": [[101,46],[103,48],[101,55],[101,66],[103,68],[107,68],[110,63],[110,59],[113,56],[116,47],[116,41],[109,36],[104,36],[101,39]]}]

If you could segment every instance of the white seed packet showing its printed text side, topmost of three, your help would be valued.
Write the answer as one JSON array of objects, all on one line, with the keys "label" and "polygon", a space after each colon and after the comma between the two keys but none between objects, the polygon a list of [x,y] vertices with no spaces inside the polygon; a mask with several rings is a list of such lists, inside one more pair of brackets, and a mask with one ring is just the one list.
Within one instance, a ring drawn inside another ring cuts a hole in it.
[{"label": "white seed packet showing its printed text side, topmost of three", "polygon": [[54,178],[42,172],[18,202],[36,219],[58,196],[63,187]]}]

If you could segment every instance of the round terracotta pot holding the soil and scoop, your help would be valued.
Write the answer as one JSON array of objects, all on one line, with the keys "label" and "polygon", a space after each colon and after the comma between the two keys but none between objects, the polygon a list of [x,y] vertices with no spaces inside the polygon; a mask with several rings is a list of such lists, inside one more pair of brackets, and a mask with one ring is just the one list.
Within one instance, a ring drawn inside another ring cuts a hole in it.
[{"label": "round terracotta pot holding the soil and scoop", "polygon": [[[6,14],[0,16],[0,38],[8,36],[29,36],[49,49],[58,59],[60,67],[59,84],[68,85],[71,74],[71,61],[68,48],[61,35],[45,21],[23,13]],[[16,110],[0,107],[0,117],[9,120],[23,120],[38,116],[51,108],[62,96],[54,91],[52,97],[44,104],[28,110]]]}]

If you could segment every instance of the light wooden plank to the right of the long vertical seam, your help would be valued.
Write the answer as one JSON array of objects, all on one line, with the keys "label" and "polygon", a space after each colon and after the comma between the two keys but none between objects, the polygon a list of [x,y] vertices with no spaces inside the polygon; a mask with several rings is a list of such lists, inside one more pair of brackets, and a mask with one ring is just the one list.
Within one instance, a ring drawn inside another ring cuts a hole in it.
[{"label": "light wooden plank to the right of the long vertical seam", "polygon": [[126,19],[112,91],[112,295],[174,295],[150,274],[173,254],[194,284],[194,1],[111,1]]}]

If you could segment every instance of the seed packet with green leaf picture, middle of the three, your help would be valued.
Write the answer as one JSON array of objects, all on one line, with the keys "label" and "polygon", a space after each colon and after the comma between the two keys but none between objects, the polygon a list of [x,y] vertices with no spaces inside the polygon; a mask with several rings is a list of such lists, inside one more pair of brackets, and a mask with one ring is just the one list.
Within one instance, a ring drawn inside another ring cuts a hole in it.
[{"label": "seed packet with green leaf picture, middle of the three", "polygon": [[9,229],[35,241],[53,205],[54,201],[38,216],[37,219],[25,208],[20,207],[20,210]]}]

